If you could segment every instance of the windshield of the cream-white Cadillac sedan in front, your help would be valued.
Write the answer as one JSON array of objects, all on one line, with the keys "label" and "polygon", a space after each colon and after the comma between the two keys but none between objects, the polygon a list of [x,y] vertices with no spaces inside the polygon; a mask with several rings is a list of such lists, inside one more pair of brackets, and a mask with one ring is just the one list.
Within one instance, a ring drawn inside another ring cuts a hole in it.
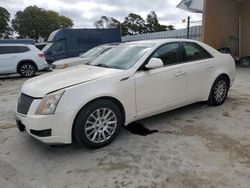
[{"label": "windshield of the cream-white Cadillac sedan in front", "polygon": [[118,46],[94,60],[89,65],[129,69],[133,67],[154,44],[125,44]]}]

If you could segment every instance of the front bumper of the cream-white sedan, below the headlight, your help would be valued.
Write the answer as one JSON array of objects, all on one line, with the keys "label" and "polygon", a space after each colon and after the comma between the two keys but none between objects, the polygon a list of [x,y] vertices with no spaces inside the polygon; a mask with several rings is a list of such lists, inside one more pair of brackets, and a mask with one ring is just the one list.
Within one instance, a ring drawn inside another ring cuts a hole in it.
[{"label": "front bumper of the cream-white sedan, below the headlight", "polygon": [[72,143],[72,117],[70,112],[49,116],[16,114],[19,130],[46,144]]}]

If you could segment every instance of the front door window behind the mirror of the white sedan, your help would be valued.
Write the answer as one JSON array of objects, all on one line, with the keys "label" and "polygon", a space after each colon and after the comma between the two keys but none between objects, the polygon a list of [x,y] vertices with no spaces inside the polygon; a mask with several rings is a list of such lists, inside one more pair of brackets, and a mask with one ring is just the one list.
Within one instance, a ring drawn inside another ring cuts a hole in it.
[{"label": "front door window behind the mirror of the white sedan", "polygon": [[157,49],[151,58],[159,58],[164,66],[177,64],[180,62],[180,46],[178,43],[170,43]]}]

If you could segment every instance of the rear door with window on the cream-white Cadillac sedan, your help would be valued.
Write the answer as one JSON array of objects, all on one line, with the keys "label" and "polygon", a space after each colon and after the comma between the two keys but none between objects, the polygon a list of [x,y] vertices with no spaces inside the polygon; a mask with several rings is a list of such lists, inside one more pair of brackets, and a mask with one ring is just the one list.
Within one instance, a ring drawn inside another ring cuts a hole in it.
[{"label": "rear door with window on the cream-white Cadillac sedan", "polygon": [[182,52],[187,65],[187,98],[200,98],[211,89],[214,58],[195,42],[183,42]]}]

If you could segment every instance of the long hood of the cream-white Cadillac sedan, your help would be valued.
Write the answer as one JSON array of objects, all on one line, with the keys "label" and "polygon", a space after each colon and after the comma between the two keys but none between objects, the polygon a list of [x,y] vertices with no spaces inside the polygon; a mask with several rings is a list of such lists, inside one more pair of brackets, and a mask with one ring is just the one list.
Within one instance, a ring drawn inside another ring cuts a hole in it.
[{"label": "long hood of the cream-white Cadillac sedan", "polygon": [[21,92],[31,97],[41,98],[50,92],[101,79],[122,71],[123,70],[118,69],[80,65],[69,69],[56,70],[32,78],[23,84]]}]

